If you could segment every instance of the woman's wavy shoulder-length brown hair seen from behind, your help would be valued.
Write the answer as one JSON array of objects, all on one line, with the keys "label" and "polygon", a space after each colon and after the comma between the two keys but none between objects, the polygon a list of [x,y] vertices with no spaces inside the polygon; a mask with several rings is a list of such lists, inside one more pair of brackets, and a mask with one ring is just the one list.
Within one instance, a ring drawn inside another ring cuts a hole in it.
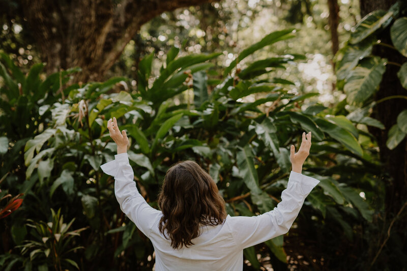
[{"label": "woman's wavy shoulder-length brown hair seen from behind", "polygon": [[[171,166],[158,196],[163,216],[159,230],[169,237],[174,249],[193,245],[200,225],[222,224],[225,201],[212,177],[194,161]],[[164,233],[166,231],[166,233]]]}]

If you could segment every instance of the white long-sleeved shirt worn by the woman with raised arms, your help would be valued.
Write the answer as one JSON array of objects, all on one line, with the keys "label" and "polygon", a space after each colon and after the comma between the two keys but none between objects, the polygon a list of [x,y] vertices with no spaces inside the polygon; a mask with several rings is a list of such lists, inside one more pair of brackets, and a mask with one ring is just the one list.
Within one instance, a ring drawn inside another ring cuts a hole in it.
[{"label": "white long-sleeved shirt worn by the woman with raised arms", "polygon": [[222,270],[243,269],[243,249],[285,234],[300,212],[306,196],[319,183],[317,179],[291,172],[281,202],[268,213],[254,217],[227,216],[217,226],[202,226],[194,245],[172,249],[170,240],[159,231],[162,213],[151,207],[140,195],[134,182],[127,153],[101,166],[114,176],[114,193],[122,211],[153,243],[156,270]]}]

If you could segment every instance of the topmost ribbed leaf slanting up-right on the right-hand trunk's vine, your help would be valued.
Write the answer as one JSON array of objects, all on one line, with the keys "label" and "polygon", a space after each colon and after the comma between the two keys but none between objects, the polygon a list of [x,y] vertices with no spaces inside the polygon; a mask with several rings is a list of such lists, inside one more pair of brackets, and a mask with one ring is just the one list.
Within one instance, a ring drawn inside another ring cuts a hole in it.
[{"label": "topmost ribbed leaf slanting up-right on the right-hand trunk's vine", "polygon": [[377,29],[379,29],[382,24],[386,23],[392,18],[393,12],[386,12],[384,10],[376,10],[367,14],[363,19],[356,25],[355,32],[351,34],[350,42],[352,44],[358,43]]}]

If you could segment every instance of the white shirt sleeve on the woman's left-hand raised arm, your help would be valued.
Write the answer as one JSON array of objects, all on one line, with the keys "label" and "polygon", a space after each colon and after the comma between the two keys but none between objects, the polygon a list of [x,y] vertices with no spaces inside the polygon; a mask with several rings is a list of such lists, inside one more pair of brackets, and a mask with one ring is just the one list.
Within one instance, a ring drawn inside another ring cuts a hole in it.
[{"label": "white shirt sleeve on the woman's left-hand raised arm", "polygon": [[151,207],[138,192],[127,153],[115,155],[113,161],[100,167],[103,172],[114,177],[114,194],[123,213],[149,237],[154,222],[162,213]]}]

